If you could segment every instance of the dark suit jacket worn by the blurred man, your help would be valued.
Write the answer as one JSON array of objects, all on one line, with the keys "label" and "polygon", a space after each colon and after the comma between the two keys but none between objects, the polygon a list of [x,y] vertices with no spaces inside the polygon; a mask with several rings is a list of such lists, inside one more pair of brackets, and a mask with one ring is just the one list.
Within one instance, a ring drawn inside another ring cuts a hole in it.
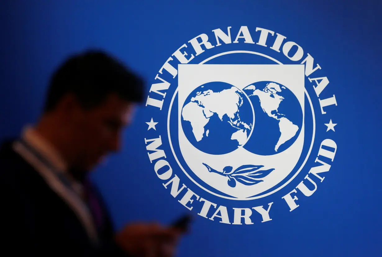
[{"label": "dark suit jacket worn by the blurred man", "polygon": [[98,228],[100,244],[94,246],[74,211],[12,149],[12,143],[5,141],[0,149],[0,233],[5,256],[127,256],[114,243],[100,197],[103,225]]}]

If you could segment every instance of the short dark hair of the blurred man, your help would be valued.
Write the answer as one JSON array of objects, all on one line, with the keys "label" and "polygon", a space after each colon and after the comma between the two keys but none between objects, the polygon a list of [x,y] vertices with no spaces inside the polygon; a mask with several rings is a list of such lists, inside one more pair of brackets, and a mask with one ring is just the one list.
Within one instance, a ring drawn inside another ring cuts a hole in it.
[{"label": "short dark hair of the blurred man", "polygon": [[123,100],[141,103],[144,81],[106,52],[87,50],[70,56],[53,73],[44,112],[52,111],[68,93],[73,93],[86,109],[99,106],[112,93]]}]

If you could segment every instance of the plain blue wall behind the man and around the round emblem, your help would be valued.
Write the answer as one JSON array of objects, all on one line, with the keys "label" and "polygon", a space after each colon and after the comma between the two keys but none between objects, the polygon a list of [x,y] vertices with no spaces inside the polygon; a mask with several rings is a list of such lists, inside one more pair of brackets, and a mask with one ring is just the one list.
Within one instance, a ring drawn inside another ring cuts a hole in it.
[{"label": "plain blue wall behind the man and around the round emblem", "polygon": [[[36,122],[50,73],[74,51],[107,49],[151,84],[194,36],[228,26],[272,29],[308,49],[330,76],[335,164],[314,195],[270,222],[234,226],[198,216],[178,256],[381,256],[381,11],[372,0],[2,1],[0,137]],[[126,130],[123,152],[94,173],[117,229],[134,220],[166,224],[188,211],[147,159],[144,112]]]}]

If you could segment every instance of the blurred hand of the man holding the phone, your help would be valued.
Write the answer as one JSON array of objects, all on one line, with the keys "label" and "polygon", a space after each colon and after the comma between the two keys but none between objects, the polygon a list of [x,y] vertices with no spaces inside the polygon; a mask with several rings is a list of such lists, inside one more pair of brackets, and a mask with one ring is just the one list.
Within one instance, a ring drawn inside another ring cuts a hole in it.
[{"label": "blurred hand of the man holding the phone", "polygon": [[181,232],[158,224],[131,224],[116,235],[117,244],[134,257],[172,257]]}]

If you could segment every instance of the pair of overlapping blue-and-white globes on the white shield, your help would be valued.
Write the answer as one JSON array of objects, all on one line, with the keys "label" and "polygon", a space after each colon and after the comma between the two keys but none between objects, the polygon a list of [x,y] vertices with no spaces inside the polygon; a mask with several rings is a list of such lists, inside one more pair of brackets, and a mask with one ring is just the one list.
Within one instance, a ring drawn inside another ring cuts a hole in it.
[{"label": "pair of overlapping blue-and-white globes on the white shield", "polygon": [[189,142],[213,155],[238,147],[258,155],[280,153],[295,142],[302,122],[296,96],[273,81],[252,83],[243,90],[224,82],[206,83],[189,94],[181,113]]}]

